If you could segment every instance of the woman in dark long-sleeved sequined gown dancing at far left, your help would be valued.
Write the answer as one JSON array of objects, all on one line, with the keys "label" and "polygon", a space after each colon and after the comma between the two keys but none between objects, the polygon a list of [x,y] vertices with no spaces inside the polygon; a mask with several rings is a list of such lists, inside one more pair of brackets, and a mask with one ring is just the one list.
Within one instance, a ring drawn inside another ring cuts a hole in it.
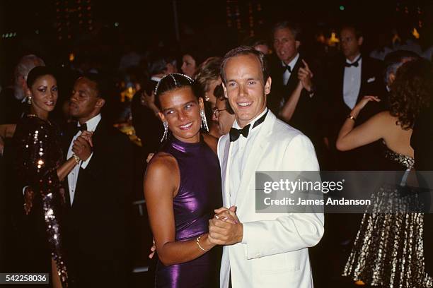
[{"label": "woman in dark long-sleeved sequined gown dancing at far left", "polygon": [[19,186],[25,187],[23,272],[50,273],[52,287],[68,287],[71,277],[62,238],[65,198],[61,182],[80,158],[77,153],[64,162],[59,130],[48,120],[57,101],[53,75],[43,66],[28,74],[30,113],[18,122],[13,136],[14,169]]}]

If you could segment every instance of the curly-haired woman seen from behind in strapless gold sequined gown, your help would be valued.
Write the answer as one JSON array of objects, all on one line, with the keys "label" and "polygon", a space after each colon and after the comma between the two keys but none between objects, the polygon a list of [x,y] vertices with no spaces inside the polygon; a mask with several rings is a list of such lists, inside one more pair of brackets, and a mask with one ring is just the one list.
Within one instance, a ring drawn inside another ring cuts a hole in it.
[{"label": "curly-haired woman seen from behind in strapless gold sequined gown", "polygon": [[[391,85],[390,111],[376,114],[354,128],[362,108],[370,101],[379,101],[374,96],[364,97],[343,124],[337,148],[351,150],[381,139],[386,169],[412,169],[412,127],[432,93],[432,64],[423,59],[408,61],[398,68]],[[391,199],[394,191],[395,187],[383,186],[376,197]],[[433,287],[432,277],[425,272],[423,226],[422,213],[364,214],[343,276],[379,287]]]}]

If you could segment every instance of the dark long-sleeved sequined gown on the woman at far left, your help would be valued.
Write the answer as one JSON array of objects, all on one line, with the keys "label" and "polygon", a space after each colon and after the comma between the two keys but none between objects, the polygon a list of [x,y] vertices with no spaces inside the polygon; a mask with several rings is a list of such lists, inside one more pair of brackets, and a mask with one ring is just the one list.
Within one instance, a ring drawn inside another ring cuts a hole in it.
[{"label": "dark long-sleeved sequined gown on the woman at far left", "polygon": [[67,260],[62,243],[66,206],[57,176],[57,168],[64,160],[59,130],[49,121],[29,114],[18,122],[13,140],[19,186],[30,186],[34,192],[33,208],[26,216],[24,232],[28,237],[26,243],[31,246],[27,248],[27,267],[33,272],[51,272],[53,258],[62,286],[68,287]]}]

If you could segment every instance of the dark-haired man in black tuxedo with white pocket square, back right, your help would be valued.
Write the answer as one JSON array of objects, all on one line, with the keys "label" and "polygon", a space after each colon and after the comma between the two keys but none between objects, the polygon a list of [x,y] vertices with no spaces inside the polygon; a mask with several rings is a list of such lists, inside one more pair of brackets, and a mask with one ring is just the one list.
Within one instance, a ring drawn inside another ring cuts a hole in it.
[{"label": "dark-haired man in black tuxedo with white pocket square, back right", "polygon": [[338,132],[352,108],[365,95],[375,95],[381,102],[366,106],[356,119],[356,125],[364,123],[374,114],[387,109],[386,88],[383,84],[383,66],[380,61],[361,54],[364,38],[354,26],[345,26],[340,32],[343,57],[331,63],[327,69],[327,100],[325,121],[333,161],[340,170],[374,170],[375,157],[378,157],[378,143],[362,146],[347,152],[337,152],[335,141]]}]

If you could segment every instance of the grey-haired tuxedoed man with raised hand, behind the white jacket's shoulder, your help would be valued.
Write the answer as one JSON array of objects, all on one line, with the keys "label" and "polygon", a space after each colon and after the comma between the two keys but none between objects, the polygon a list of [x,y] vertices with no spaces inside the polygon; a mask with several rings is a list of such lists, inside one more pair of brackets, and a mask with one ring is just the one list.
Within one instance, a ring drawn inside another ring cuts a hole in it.
[{"label": "grey-haired tuxedoed man with raised hand, behind the white jacket's shoulder", "polygon": [[[272,59],[270,75],[272,89],[267,97],[268,107],[279,116],[282,107],[287,102],[292,92],[299,83],[299,68],[305,68],[304,56],[299,53],[301,47],[301,28],[296,23],[282,21],[277,23],[272,30],[275,54],[277,59]],[[306,61],[308,63],[308,61]],[[311,66],[311,63],[308,63]],[[314,65],[313,65],[314,66]],[[313,73],[318,72],[317,67]],[[316,80],[318,76],[314,76]],[[287,121],[294,128],[299,129],[313,142],[316,151],[321,144],[321,136],[318,131],[318,93],[316,83],[308,80],[301,92],[296,109]]]}]

